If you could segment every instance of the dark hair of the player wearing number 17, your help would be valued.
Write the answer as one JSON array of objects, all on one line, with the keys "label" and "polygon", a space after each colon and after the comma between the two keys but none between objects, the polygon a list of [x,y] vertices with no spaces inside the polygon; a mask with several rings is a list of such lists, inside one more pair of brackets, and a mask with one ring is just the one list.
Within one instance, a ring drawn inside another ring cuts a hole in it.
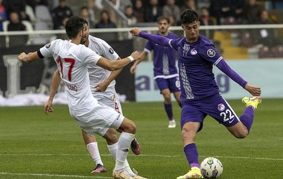
[{"label": "dark hair of the player wearing number 17", "polygon": [[71,16],[66,22],[66,33],[68,38],[76,38],[79,31],[83,29],[83,25],[87,24],[87,20],[79,16]]}]

